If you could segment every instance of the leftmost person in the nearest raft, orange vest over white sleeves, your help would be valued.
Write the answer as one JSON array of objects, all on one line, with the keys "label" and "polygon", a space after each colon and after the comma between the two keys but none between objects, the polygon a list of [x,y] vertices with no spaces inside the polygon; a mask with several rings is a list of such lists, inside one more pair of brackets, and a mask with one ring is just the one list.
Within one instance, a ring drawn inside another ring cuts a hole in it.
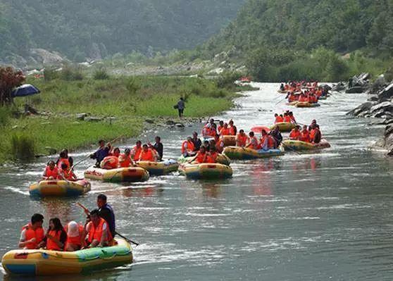
[{"label": "leftmost person in the nearest raft, orange vest over white sleeves", "polygon": [[40,213],[32,215],[30,223],[22,227],[20,232],[19,248],[39,249],[44,246],[45,232],[42,223],[44,223],[44,216]]}]

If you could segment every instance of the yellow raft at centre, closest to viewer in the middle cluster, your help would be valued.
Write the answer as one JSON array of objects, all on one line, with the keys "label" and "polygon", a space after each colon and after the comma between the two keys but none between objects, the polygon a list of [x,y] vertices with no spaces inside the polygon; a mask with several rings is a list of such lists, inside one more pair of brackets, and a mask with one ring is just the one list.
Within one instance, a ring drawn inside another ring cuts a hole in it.
[{"label": "yellow raft at centre, closest to viewer in the middle cluster", "polygon": [[220,163],[181,164],[179,166],[181,175],[192,179],[225,179],[232,177],[232,168]]}]

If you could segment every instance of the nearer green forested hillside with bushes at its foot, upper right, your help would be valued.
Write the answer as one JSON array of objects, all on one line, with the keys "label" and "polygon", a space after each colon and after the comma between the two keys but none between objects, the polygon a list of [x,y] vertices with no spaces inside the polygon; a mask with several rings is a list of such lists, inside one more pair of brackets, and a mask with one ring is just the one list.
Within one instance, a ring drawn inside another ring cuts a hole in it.
[{"label": "nearer green forested hillside with bushes at its foot, upper right", "polygon": [[229,51],[260,80],[339,79],[391,57],[392,18],[392,0],[248,0],[202,54]]}]

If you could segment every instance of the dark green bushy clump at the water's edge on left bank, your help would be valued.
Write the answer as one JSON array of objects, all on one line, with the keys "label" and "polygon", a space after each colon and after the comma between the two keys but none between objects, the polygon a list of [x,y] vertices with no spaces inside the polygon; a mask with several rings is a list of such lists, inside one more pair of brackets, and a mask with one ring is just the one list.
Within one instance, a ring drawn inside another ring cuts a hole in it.
[{"label": "dark green bushy clump at the water's edge on left bank", "polygon": [[11,154],[17,160],[31,160],[35,156],[35,140],[24,133],[12,135]]}]

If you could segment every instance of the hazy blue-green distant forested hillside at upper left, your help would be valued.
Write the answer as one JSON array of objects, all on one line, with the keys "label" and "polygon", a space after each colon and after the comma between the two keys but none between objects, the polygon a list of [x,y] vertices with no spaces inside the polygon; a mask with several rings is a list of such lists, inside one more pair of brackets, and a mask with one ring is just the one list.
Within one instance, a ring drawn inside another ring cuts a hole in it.
[{"label": "hazy blue-green distant forested hillside at upper left", "polygon": [[58,51],[75,61],[96,54],[190,48],[227,25],[243,3],[0,0],[0,58],[24,56],[30,48]]}]

